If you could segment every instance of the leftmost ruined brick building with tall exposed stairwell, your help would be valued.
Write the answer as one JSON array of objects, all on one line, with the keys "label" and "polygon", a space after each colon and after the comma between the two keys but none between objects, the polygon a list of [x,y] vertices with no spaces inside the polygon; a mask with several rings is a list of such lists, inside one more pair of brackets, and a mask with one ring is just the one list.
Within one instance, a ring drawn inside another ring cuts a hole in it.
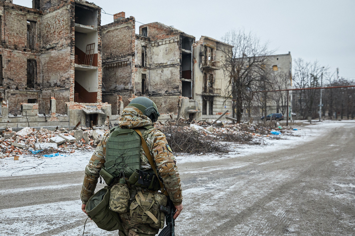
[{"label": "leftmost ruined brick building with tall exposed stairwell", "polygon": [[104,124],[100,7],[0,2],[0,127]]}]

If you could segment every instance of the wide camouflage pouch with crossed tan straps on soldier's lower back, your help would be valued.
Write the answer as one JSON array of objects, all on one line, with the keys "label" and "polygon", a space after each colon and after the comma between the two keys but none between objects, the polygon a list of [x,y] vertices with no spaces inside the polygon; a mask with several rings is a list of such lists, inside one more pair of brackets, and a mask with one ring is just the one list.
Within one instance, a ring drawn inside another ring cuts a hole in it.
[{"label": "wide camouflage pouch with crossed tan straps on soldier's lower back", "polygon": [[149,224],[152,228],[163,229],[165,213],[160,206],[166,206],[168,198],[160,193],[138,192],[130,206],[130,216],[133,221]]}]

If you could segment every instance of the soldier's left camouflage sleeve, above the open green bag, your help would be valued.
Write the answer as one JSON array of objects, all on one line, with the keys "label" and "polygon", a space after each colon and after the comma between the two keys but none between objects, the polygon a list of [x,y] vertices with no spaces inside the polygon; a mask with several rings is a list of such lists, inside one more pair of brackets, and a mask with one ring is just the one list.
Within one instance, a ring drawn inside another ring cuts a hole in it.
[{"label": "soldier's left camouflage sleeve, above the open green bag", "polygon": [[84,182],[80,193],[80,198],[83,204],[86,204],[94,194],[100,170],[105,163],[106,142],[109,134],[109,131],[104,134],[104,137],[97,145],[94,154],[91,156],[89,164],[85,168]]}]

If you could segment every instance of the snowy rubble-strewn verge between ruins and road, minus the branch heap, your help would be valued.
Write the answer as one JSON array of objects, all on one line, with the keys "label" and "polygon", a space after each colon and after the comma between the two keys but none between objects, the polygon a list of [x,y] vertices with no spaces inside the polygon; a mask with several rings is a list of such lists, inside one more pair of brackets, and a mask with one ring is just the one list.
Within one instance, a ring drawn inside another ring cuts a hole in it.
[{"label": "snowy rubble-strewn verge between ruins and road, minus the branch heap", "polygon": [[[257,154],[268,151],[280,151],[290,148],[302,142],[329,132],[329,129],[349,125],[347,122],[318,122],[312,125],[294,125],[289,127],[262,127],[256,123],[217,123],[216,125],[203,122],[179,126],[170,124],[177,129],[187,132],[197,132],[199,137],[214,139],[222,147],[228,148],[228,152],[209,153],[178,153],[174,150],[178,163],[199,162],[206,160],[218,160],[221,158],[235,158],[241,155]],[[302,124],[302,122],[299,122]],[[158,128],[168,127],[157,125]],[[353,126],[351,126],[353,127]],[[296,129],[296,130],[294,130]],[[11,138],[0,138],[1,159],[0,176],[18,176],[30,174],[64,173],[71,171],[84,171],[95,145],[99,142],[106,129],[67,130],[24,128],[13,133]],[[271,134],[271,131],[280,131],[280,135]],[[63,144],[50,142],[52,137],[60,137],[59,134],[67,134],[75,137],[74,142],[65,140]],[[168,138],[169,134],[167,134]],[[234,140],[233,140],[234,139]],[[172,143],[170,142],[172,146]],[[18,160],[16,160],[17,158]]]}]

